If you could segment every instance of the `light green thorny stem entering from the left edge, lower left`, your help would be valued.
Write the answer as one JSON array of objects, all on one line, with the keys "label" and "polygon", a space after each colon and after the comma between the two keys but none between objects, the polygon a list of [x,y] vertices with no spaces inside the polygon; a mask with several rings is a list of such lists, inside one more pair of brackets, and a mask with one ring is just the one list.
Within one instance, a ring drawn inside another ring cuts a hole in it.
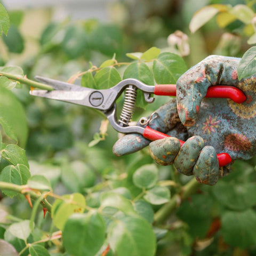
[{"label": "light green thorny stem entering from the left edge, lower left", "polygon": [[[13,184],[13,183],[8,183],[8,182],[3,182],[3,181],[0,181],[0,189],[7,189],[7,190],[11,190],[11,191],[14,191],[14,192],[17,192],[17,193],[20,193],[22,195],[24,194],[28,194],[30,195],[30,197],[34,200],[38,199],[40,196],[42,196],[42,194],[37,194],[35,193],[35,191],[33,190],[26,190],[26,192],[24,193],[23,190],[24,190],[25,186],[20,186],[20,185],[16,185],[16,184]],[[46,200],[46,199],[43,199],[41,201],[41,205],[45,208],[47,208],[47,211],[51,212],[51,209],[52,209],[52,205]]]}]

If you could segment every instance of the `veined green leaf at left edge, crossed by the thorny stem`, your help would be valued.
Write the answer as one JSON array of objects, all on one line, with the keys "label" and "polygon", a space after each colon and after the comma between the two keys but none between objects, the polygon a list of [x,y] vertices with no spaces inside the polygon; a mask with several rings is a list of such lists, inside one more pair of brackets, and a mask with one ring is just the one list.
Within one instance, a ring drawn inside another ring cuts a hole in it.
[{"label": "veined green leaf at left edge, crossed by the thorny stem", "polygon": [[[30,172],[28,167],[23,164],[18,164],[17,166],[9,165],[6,166],[1,174],[0,174],[0,181],[13,183],[16,185],[25,185],[30,177]],[[3,193],[7,196],[13,197],[18,195],[17,192],[2,189]]]}]

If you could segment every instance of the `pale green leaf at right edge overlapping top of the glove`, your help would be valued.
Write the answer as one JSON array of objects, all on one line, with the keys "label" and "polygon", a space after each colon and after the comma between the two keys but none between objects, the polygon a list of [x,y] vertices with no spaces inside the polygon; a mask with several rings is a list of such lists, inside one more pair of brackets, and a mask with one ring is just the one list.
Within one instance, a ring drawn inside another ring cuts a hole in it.
[{"label": "pale green leaf at right edge overlapping top of the glove", "polygon": [[256,73],[256,46],[247,50],[237,66],[237,75],[239,79],[252,76]]}]

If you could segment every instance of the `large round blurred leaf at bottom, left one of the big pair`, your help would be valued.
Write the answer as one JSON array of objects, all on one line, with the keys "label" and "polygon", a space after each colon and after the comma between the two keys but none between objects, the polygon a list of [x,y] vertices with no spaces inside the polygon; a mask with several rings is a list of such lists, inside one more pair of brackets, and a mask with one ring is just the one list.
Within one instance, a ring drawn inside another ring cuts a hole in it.
[{"label": "large round blurred leaf at bottom, left one of the big pair", "polygon": [[74,256],[94,256],[105,241],[106,226],[97,212],[73,214],[64,227],[63,245]]}]

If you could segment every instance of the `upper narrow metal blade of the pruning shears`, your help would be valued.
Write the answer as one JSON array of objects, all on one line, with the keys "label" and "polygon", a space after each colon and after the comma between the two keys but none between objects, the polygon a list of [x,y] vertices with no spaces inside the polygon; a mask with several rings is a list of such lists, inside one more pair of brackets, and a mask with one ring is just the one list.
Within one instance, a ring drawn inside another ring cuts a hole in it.
[{"label": "upper narrow metal blade of the pruning shears", "polygon": [[86,90],[86,87],[54,80],[54,79],[47,78],[47,77],[35,76],[35,79],[39,82],[51,85],[53,87],[53,89],[55,89],[55,90],[60,90],[60,91],[84,91],[84,90]]}]

